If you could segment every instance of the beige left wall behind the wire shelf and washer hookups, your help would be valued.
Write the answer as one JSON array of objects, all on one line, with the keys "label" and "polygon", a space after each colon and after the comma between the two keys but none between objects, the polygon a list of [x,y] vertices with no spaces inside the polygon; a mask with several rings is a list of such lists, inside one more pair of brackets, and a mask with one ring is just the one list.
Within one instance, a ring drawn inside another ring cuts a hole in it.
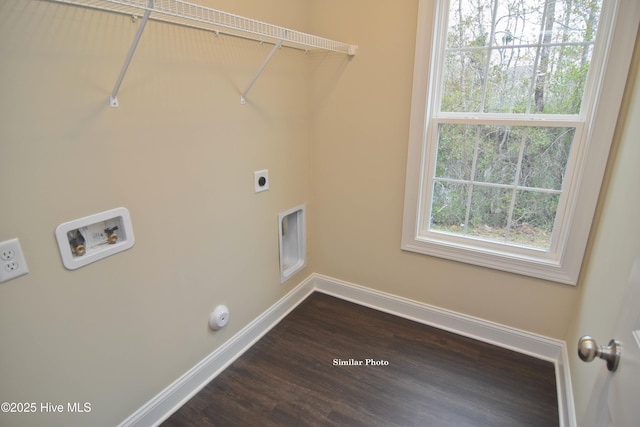
[{"label": "beige left wall behind the wire shelf and washer hookups", "polygon": [[[304,1],[199,1],[306,25]],[[2,426],[115,425],[313,271],[280,284],[277,215],[311,201],[305,54],[281,49],[241,105],[270,45],[150,22],[112,109],[136,29],[0,2],[0,241],[20,238],[30,269],[0,284],[0,401],[92,404]],[[270,190],[254,194],[263,168]],[[118,206],[135,246],[65,270],[55,228]],[[220,303],[231,318],[214,333]]]}]

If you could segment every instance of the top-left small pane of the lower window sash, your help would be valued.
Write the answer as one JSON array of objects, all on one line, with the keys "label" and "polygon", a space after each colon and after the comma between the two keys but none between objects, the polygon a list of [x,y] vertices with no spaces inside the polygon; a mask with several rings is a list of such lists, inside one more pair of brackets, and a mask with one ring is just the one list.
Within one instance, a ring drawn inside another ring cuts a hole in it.
[{"label": "top-left small pane of the lower window sash", "polygon": [[471,179],[477,126],[441,124],[438,128],[436,177]]}]

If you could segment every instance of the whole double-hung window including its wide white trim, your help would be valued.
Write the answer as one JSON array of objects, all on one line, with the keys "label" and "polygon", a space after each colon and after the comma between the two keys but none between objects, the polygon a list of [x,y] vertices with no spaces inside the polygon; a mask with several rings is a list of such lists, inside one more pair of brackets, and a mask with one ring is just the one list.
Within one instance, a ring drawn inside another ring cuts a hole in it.
[{"label": "whole double-hung window including its wide white trim", "polygon": [[575,284],[631,3],[420,0],[403,249]]}]

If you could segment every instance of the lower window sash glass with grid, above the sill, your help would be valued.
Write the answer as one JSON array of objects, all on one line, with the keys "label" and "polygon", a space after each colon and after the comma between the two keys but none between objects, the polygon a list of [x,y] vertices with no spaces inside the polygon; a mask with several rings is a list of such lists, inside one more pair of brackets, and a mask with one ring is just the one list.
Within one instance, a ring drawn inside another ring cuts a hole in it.
[{"label": "lower window sash glass with grid, above the sill", "polygon": [[441,123],[430,229],[548,249],[574,134]]}]

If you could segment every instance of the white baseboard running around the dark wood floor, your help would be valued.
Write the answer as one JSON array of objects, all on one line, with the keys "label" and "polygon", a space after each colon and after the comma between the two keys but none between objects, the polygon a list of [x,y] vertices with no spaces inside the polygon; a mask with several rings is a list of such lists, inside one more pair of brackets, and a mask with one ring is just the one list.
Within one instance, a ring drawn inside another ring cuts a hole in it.
[{"label": "white baseboard running around the dark wood floor", "polygon": [[120,427],[159,425],[314,291],[554,363],[560,425],[563,427],[576,426],[569,360],[564,341],[524,332],[314,273],[229,341],[124,420]]}]

